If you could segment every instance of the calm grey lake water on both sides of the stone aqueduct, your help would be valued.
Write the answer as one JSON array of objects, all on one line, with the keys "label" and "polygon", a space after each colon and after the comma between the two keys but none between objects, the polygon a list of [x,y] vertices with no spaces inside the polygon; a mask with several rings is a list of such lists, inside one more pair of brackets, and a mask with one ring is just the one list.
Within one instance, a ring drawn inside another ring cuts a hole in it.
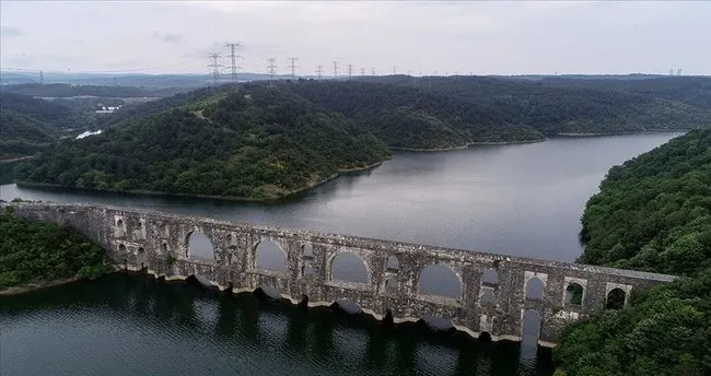
[{"label": "calm grey lake water on both sides of the stone aqueduct", "polygon": [[[0,187],[0,198],[94,202],[559,261],[609,167],[679,133],[397,152],[276,203]],[[114,275],[0,298],[0,375],[550,375],[550,352],[388,330],[329,309]]]}]

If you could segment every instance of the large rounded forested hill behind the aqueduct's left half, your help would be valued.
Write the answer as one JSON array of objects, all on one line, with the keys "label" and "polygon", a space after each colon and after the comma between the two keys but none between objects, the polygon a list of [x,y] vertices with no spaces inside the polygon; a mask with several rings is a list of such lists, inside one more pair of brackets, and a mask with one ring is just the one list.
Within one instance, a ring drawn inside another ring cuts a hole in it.
[{"label": "large rounded forested hill behind the aqueduct's left half", "polygon": [[373,134],[289,92],[205,94],[98,136],[60,141],[15,176],[89,189],[270,199],[391,155]]}]

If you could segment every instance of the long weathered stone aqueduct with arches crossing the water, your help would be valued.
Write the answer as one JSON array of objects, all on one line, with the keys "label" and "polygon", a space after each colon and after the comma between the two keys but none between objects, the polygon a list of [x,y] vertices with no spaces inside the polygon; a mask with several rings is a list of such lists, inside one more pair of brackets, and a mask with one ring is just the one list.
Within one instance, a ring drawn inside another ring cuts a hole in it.
[{"label": "long weathered stone aqueduct with arches crossing the water", "polygon": [[[235,293],[270,286],[293,303],[306,298],[308,306],[330,305],[347,298],[378,319],[392,316],[399,322],[442,317],[474,337],[488,332],[493,340],[521,340],[524,315],[536,310],[540,315],[538,343],[541,345],[555,345],[566,324],[604,309],[610,292],[621,290],[627,304],[633,289],[675,279],[125,208],[22,203],[15,204],[14,211],[23,218],[71,225],[100,244],[117,265],[147,270],[166,280],[200,275],[221,290],[231,289]],[[210,239],[214,249],[212,259],[190,255],[188,237],[194,232]],[[284,251],[284,270],[257,267],[257,245],[265,240],[273,242]],[[362,259],[369,274],[366,283],[333,278],[331,261],[342,252]],[[388,258],[396,258],[397,267],[388,266]],[[421,293],[420,272],[432,265],[444,265],[454,272],[461,284],[458,297]],[[496,283],[482,279],[491,269],[498,274]],[[543,284],[543,296],[536,299],[526,297],[526,286],[534,279]],[[580,304],[566,298],[566,290],[571,284],[582,286]],[[483,302],[485,295],[493,299]]]}]

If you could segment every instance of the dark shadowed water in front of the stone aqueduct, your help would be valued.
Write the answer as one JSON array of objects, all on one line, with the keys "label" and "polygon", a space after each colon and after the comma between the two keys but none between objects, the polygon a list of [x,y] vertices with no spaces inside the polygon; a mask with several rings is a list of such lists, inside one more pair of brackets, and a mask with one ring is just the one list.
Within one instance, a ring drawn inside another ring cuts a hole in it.
[{"label": "dark shadowed water in front of the stone aqueduct", "polygon": [[[70,375],[88,366],[104,375],[186,375],[205,364],[208,374],[552,374],[546,349],[523,357],[513,342],[140,274],[1,297],[0,328],[0,362],[13,375]],[[42,348],[43,359],[24,355],[24,345]]]}]

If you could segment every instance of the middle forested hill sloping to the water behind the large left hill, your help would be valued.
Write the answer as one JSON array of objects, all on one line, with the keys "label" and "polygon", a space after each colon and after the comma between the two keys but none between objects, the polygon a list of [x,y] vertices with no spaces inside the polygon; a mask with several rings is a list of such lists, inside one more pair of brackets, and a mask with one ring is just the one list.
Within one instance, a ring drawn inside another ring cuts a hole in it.
[{"label": "middle forested hill sloping to the water behind the large left hill", "polygon": [[318,106],[353,119],[394,148],[445,149],[474,142],[544,139],[534,129],[515,125],[511,114],[420,89],[314,80],[280,85]]}]

